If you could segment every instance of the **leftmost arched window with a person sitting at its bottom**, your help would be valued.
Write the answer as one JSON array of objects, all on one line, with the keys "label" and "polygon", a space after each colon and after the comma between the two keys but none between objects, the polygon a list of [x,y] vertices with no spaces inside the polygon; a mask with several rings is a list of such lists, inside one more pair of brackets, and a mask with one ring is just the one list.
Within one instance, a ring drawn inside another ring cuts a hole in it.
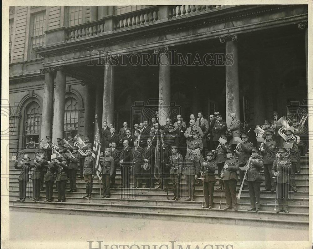
[{"label": "leftmost arched window with a person sitting at its bottom", "polygon": [[41,114],[39,104],[30,102],[26,107],[26,136],[24,148],[38,148]]}]

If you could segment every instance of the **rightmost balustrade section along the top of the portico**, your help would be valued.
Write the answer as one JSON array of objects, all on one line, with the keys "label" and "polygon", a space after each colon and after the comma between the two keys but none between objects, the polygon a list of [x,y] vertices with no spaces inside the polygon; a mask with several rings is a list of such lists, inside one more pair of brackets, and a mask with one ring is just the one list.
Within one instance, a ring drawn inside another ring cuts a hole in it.
[{"label": "rightmost balustrade section along the top of the portico", "polygon": [[174,5],[170,6],[169,19],[197,14],[213,9],[218,9],[223,5]]}]

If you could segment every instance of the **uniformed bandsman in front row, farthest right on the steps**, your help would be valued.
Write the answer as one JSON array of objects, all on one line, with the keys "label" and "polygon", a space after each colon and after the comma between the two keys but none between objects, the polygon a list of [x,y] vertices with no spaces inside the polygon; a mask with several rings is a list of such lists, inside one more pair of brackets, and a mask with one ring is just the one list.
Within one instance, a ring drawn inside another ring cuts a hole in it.
[{"label": "uniformed bandsman in front row, farthest right on the steps", "polygon": [[278,198],[278,210],[276,213],[288,211],[288,192],[290,185],[290,170],[291,162],[287,158],[287,149],[280,148],[278,150],[279,158],[274,160],[272,173],[277,179],[277,198]]}]

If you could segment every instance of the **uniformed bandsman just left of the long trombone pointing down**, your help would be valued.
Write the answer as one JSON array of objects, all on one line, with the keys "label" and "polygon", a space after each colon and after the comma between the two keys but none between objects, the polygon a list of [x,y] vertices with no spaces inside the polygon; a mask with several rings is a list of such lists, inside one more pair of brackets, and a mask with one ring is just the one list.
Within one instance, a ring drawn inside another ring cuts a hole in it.
[{"label": "uniformed bandsman just left of the long trombone pointing down", "polygon": [[237,209],[237,197],[236,197],[236,185],[238,181],[237,170],[239,170],[239,161],[237,158],[233,158],[235,151],[227,148],[226,157],[221,178],[224,178],[224,186],[225,186],[225,198],[227,207],[224,210],[234,209],[234,211],[238,211]]}]

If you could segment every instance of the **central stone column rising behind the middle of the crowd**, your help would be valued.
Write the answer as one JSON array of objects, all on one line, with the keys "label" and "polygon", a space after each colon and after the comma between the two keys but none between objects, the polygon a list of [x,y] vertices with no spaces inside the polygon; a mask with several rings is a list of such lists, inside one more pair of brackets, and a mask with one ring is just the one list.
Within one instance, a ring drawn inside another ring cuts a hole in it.
[{"label": "central stone column rising behind the middle of the crowd", "polygon": [[165,120],[171,118],[168,106],[171,100],[171,68],[168,48],[158,48],[154,53],[159,55],[159,123],[165,125]]}]

